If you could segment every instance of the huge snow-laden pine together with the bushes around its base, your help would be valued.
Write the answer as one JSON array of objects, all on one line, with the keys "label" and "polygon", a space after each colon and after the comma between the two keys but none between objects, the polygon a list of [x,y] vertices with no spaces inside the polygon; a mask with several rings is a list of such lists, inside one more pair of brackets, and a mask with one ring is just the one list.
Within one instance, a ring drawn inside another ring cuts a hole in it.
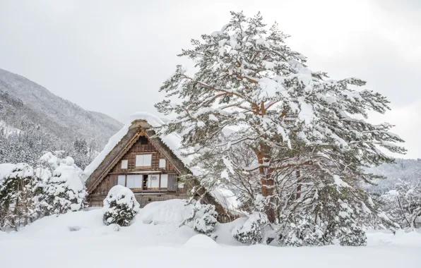
[{"label": "huge snow-laden pine together with the bushes around its base", "polygon": [[382,149],[405,152],[390,124],[366,120],[389,102],[360,79],[310,70],[286,38],[260,13],[233,12],[221,30],[192,40],[179,56],[196,71],[177,66],[162,85],[167,96],[155,107],[175,118],[158,132],[182,136],[203,187],[239,197],[251,216],[237,240],[258,243],[270,225],[280,244],[365,245],[367,217],[396,226],[362,188],[379,178],[367,167],[393,162]]}]

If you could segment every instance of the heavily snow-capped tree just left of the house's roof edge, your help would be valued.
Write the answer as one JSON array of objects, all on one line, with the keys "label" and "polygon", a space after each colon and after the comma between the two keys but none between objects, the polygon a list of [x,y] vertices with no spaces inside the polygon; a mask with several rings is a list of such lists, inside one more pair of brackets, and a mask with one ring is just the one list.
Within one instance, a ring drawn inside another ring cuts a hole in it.
[{"label": "heavily snow-capped tree just left of the house's roof edge", "polygon": [[54,169],[45,188],[45,202],[49,214],[63,214],[88,207],[87,192],[81,181],[81,171],[71,157]]}]

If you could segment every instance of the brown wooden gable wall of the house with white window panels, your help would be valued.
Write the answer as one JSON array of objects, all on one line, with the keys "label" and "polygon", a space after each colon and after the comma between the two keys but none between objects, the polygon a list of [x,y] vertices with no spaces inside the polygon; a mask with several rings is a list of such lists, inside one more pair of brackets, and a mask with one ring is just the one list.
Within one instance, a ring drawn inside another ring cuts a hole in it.
[{"label": "brown wooden gable wall of the house with white window panels", "polygon": [[[157,200],[186,198],[183,185],[178,183],[178,176],[182,172],[173,164],[174,155],[168,151],[169,148],[162,144],[160,146],[156,138],[153,142],[141,125],[134,124],[127,135],[132,137],[121,140],[120,143],[126,143],[123,152],[113,154],[114,148],[109,152],[108,159],[106,157],[98,166],[97,170],[107,166],[105,172],[94,172],[88,178],[90,205],[102,205],[102,200],[114,185],[130,188],[142,207]],[[110,159],[110,155],[114,158]]]}]

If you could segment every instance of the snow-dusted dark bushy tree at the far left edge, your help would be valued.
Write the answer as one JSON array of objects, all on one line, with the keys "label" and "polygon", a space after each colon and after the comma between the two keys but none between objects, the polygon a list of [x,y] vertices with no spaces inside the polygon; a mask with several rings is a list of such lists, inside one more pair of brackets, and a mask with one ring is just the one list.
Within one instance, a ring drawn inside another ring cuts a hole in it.
[{"label": "snow-dusted dark bushy tree at the far left edge", "polygon": [[0,185],[0,209],[5,214],[4,226],[18,230],[18,226],[26,226],[29,221],[37,218],[36,199],[40,192],[40,181],[34,175],[31,166],[25,163],[16,164],[11,173],[6,175]]}]

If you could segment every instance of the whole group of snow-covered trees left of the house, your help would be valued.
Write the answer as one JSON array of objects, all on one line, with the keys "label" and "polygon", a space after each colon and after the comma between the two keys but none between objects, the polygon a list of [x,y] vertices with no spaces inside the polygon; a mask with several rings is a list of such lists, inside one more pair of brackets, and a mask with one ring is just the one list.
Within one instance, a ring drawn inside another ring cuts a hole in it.
[{"label": "whole group of snow-covered trees left of the house", "polygon": [[82,170],[62,152],[47,152],[35,167],[16,164],[0,184],[0,229],[88,206]]}]

